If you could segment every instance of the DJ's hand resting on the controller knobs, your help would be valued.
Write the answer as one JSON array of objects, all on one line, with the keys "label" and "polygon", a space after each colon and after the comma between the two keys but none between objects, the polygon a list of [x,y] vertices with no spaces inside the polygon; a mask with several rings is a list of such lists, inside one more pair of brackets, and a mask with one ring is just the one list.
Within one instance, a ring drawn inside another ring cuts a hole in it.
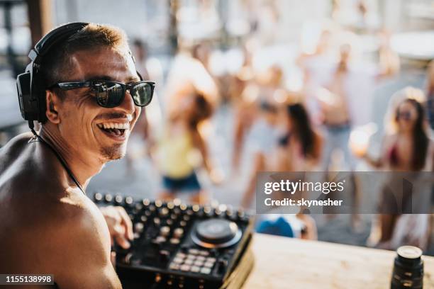
[{"label": "DJ's hand resting on the controller knobs", "polygon": [[133,240],[133,223],[126,211],[122,207],[113,207],[112,205],[99,209],[109,227],[111,244],[113,245],[114,241],[123,249],[128,249],[130,247],[128,240]]}]

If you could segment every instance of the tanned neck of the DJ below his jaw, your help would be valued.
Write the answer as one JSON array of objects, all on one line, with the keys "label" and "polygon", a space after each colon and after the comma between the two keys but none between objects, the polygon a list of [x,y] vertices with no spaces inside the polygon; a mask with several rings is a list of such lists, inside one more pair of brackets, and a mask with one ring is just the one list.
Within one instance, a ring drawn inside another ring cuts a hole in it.
[{"label": "tanned neck of the DJ below his jaw", "polygon": [[87,187],[91,177],[98,174],[104,166],[98,158],[87,156],[85,152],[80,152],[67,144],[60,134],[42,127],[39,135],[65,160],[69,170],[83,189]]}]

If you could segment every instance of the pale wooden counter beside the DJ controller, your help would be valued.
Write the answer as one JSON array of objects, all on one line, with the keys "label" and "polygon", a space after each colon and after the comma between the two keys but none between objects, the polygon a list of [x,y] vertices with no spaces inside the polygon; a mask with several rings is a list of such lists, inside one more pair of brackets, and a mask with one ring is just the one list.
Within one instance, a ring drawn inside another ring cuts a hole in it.
[{"label": "pale wooden counter beside the DJ controller", "polygon": [[[390,288],[396,252],[255,234],[255,267],[243,289]],[[423,288],[434,288],[434,257],[423,256]]]}]

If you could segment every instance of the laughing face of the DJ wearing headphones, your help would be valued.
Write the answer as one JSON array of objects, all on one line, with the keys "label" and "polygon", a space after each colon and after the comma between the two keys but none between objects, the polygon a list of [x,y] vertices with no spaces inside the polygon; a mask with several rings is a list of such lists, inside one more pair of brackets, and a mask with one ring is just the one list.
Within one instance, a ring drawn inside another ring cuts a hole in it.
[{"label": "laughing face of the DJ wearing headphones", "polygon": [[[76,52],[72,63],[69,79],[62,81],[104,79],[128,84],[140,80],[131,57],[109,47]],[[115,108],[99,106],[89,88],[65,91],[59,106],[59,130],[69,147],[102,163],[125,155],[130,131],[141,110],[129,91]]]}]

